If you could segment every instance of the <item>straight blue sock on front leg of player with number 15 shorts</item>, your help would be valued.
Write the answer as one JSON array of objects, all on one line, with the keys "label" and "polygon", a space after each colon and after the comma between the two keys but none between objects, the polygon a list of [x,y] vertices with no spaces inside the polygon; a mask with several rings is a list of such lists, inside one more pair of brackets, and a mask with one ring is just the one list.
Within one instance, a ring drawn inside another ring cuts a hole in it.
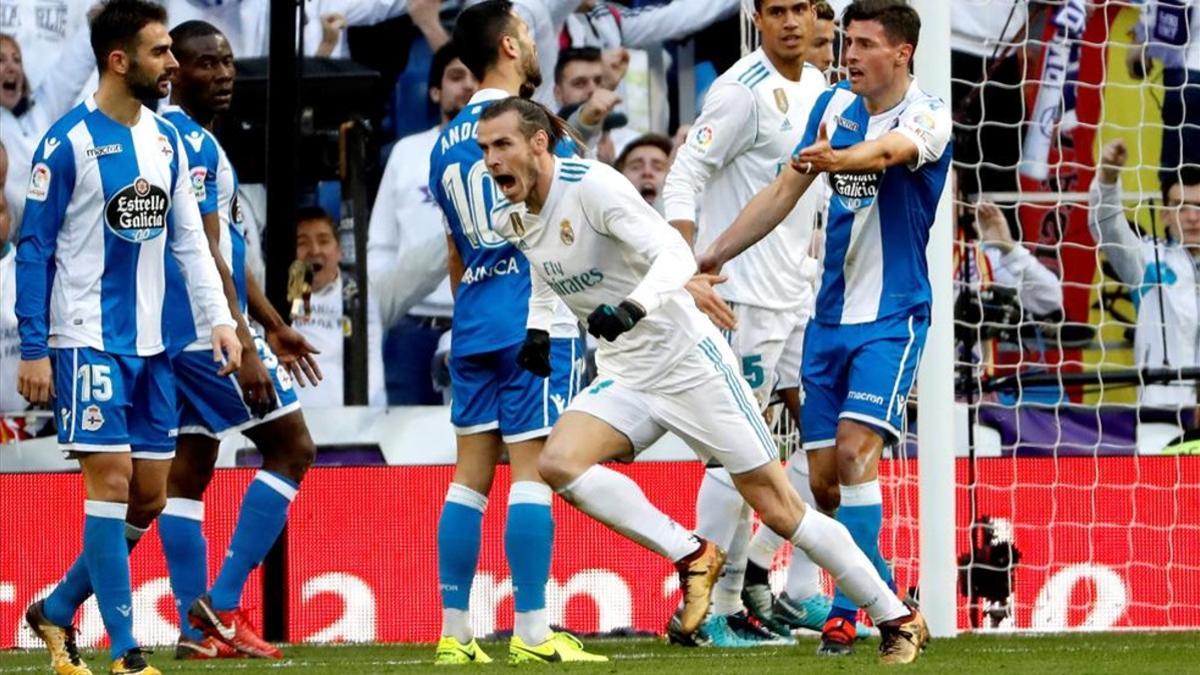
[{"label": "straight blue sock on front leg of player with number 15 shorts", "polygon": [[86,500],[83,503],[83,557],[113,659],[138,646],[133,639],[133,589],[130,550],[125,543],[126,508],[118,502]]}]

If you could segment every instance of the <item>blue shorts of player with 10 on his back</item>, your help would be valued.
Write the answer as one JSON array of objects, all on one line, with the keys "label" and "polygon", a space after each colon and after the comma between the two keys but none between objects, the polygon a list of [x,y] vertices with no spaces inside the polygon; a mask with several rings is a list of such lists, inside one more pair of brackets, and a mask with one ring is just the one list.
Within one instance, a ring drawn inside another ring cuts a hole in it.
[{"label": "blue shorts of player with 10 on his back", "polygon": [[450,356],[450,423],[467,436],[498,430],[505,443],[550,434],[583,386],[583,341],[550,341],[550,377],[517,365],[521,345],[494,352]]}]

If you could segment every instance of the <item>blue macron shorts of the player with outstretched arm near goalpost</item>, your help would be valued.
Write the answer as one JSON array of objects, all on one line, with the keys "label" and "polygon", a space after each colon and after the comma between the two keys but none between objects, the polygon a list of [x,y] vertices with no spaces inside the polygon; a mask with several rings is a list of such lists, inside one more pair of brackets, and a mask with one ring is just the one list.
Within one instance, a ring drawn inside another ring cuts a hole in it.
[{"label": "blue macron shorts of the player with outstretched arm near goalpost", "polygon": [[804,449],[833,446],[841,418],[866,424],[884,443],[899,440],[928,329],[925,315],[853,324],[810,322],[800,369]]}]

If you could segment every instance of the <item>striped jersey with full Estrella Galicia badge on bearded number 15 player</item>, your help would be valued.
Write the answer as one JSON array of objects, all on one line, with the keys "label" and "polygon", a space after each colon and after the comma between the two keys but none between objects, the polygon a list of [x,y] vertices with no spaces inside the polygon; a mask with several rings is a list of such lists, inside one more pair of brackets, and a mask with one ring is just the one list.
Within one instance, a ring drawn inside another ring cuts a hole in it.
[{"label": "striped jersey with full Estrella Galicia badge on bearded number 15 player", "polygon": [[206,319],[232,327],[179,132],[148,108],[125,126],[89,97],[34,155],[17,247],[22,358],[162,352],[168,251]]}]

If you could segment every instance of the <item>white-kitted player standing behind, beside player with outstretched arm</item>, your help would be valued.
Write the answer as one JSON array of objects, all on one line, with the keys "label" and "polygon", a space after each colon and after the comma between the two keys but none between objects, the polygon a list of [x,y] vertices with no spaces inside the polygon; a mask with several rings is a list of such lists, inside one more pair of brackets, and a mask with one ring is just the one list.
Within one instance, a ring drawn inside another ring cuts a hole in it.
[{"label": "white-kitted player standing behind, beside player with outstretched arm", "polygon": [[[762,47],[716,78],[706,95],[662,193],[667,220],[685,238],[695,238],[697,250],[712,244],[755,193],[770,185],[826,90],[821,71],[805,64],[815,18],[806,0],[756,0],[754,19]],[[815,191],[805,195],[775,231],[730,261],[722,270],[727,281],[716,287],[737,317],[728,342],[758,410],[767,407],[778,386],[792,390],[785,400],[798,413],[796,389],[817,267],[808,255],[817,198]],[[799,460],[790,462],[788,478],[812,504],[808,462],[803,456]],[[714,591],[713,616],[704,626],[714,646],[750,646],[773,638],[742,611],[751,526],[751,513],[728,472],[709,465],[696,496],[696,530],[728,550]],[[803,551],[796,554],[790,579],[797,583],[790,584],[793,595],[780,601],[780,614],[799,617],[796,627],[820,629],[829,611],[821,571]],[[766,577],[766,571],[757,569]],[[770,590],[762,581],[750,587],[758,595],[748,597],[746,604],[778,635],[791,637],[792,626],[774,620]],[[677,639],[673,631],[668,634]]]}]

